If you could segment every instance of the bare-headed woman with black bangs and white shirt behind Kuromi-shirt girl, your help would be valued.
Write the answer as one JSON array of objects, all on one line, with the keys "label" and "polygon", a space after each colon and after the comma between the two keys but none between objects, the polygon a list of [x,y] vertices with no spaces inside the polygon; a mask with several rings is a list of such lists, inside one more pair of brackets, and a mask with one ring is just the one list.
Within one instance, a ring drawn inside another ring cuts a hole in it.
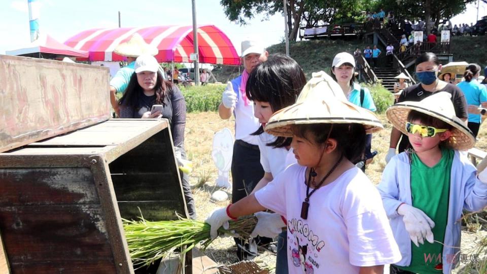
[{"label": "bare-headed woman with black bangs and white shirt behind Kuromi-shirt girl", "polygon": [[[264,168],[264,177],[252,193],[266,186],[287,166],[296,163],[291,149],[292,139],[270,135],[264,132],[264,126],[274,112],[296,102],[305,84],[306,77],[299,64],[291,57],[281,54],[270,55],[249,76],[246,93],[254,101],[254,116],[261,124],[253,135],[258,135],[260,163]],[[279,214],[258,213],[256,216],[262,229],[268,231],[266,236],[274,237],[276,233],[272,231],[279,233],[286,226]],[[276,274],[288,273],[286,239],[286,231],[281,232],[277,238]]]}]

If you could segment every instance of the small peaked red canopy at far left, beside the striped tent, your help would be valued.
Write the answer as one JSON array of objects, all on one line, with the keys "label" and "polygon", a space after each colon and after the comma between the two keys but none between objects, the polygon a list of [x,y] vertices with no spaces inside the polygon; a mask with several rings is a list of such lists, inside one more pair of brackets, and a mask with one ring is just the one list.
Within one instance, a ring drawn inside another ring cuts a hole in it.
[{"label": "small peaked red canopy at far left, beside the striped tent", "polygon": [[7,55],[22,55],[22,56],[36,56],[37,54],[53,54],[56,57],[74,56],[74,57],[88,57],[88,52],[83,50],[76,50],[62,43],[57,42],[49,35],[41,36],[38,40],[30,43],[24,48],[10,50],[5,52]]}]

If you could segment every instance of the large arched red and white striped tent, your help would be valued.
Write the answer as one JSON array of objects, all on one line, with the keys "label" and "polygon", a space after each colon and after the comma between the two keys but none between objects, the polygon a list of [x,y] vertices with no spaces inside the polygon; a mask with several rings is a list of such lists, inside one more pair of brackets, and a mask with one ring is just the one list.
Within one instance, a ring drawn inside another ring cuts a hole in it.
[{"label": "large arched red and white striped tent", "polygon": [[[89,61],[121,61],[114,53],[120,43],[130,40],[133,33],[159,49],[159,62],[190,62],[193,50],[192,26],[122,27],[89,29],[69,38],[65,45],[89,52]],[[201,63],[238,65],[240,58],[228,37],[214,25],[198,27],[198,51]],[[79,60],[79,59],[78,59]]]}]

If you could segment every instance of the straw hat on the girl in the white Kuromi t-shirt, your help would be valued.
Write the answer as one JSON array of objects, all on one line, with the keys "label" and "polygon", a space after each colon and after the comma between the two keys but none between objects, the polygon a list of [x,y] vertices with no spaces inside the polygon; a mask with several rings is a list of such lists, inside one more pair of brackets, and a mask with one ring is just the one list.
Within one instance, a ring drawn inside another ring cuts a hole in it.
[{"label": "straw hat on the girl in the white Kuromi t-shirt", "polygon": [[347,101],[340,86],[325,72],[313,73],[294,105],[274,113],[265,125],[267,133],[291,137],[294,124],[362,124],[367,133],[382,124],[375,114]]}]

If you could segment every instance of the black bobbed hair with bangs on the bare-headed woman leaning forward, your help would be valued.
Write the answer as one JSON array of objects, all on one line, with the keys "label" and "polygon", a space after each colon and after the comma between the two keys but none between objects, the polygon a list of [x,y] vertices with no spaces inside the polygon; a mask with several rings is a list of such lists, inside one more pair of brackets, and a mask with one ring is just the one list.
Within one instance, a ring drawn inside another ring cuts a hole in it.
[{"label": "black bobbed hair with bangs on the bare-headed woman leaning forward", "polygon": [[[306,84],[301,66],[291,57],[271,54],[267,61],[258,64],[249,75],[246,95],[250,100],[269,102],[273,112],[293,105]],[[262,125],[253,135],[264,132]],[[267,144],[274,148],[291,145],[292,138],[277,137]]]}]

